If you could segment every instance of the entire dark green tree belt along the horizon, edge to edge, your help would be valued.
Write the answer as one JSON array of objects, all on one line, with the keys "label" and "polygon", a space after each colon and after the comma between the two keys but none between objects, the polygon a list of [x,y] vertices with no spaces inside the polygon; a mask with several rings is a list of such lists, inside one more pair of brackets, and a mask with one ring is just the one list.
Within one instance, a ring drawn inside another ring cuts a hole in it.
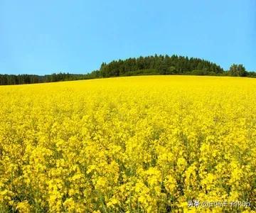
[{"label": "entire dark green tree belt along the horizon, edge to edge", "polygon": [[36,84],[69,80],[87,80],[101,77],[121,77],[132,75],[218,75],[256,77],[255,72],[247,72],[243,65],[231,65],[225,71],[219,65],[200,58],[178,55],[151,55],[126,60],[102,62],[100,70],[87,74],[53,73],[51,75],[0,75],[0,85]]}]

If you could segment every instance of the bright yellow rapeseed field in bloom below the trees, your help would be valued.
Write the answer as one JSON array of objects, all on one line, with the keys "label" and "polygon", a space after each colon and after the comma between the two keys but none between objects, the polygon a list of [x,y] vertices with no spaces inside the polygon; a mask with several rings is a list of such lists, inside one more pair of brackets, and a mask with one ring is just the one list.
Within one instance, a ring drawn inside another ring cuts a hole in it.
[{"label": "bright yellow rapeseed field in bloom below the trees", "polygon": [[1,86],[0,212],[252,212],[255,142],[256,79]]}]

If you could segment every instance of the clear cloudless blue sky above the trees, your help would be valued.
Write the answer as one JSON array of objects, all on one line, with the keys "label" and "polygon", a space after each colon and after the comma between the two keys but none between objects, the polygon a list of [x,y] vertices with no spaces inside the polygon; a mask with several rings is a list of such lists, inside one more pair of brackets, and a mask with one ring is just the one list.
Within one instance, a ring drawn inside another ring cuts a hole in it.
[{"label": "clear cloudless blue sky above the trees", "polygon": [[255,0],[0,0],[0,74],[188,55],[256,71]]}]

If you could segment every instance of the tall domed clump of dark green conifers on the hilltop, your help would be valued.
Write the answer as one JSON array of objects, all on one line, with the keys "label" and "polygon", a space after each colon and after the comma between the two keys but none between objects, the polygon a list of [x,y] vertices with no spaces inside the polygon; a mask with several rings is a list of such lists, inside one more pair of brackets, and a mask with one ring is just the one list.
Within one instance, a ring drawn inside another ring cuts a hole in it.
[{"label": "tall domed clump of dark green conifers on the hilltop", "polygon": [[[139,72],[138,72],[139,71]],[[109,64],[103,62],[100,67],[102,77],[151,74],[151,75],[186,75],[201,72],[203,75],[223,73],[220,66],[199,58],[178,55],[154,55],[148,57],[114,60]]]}]

